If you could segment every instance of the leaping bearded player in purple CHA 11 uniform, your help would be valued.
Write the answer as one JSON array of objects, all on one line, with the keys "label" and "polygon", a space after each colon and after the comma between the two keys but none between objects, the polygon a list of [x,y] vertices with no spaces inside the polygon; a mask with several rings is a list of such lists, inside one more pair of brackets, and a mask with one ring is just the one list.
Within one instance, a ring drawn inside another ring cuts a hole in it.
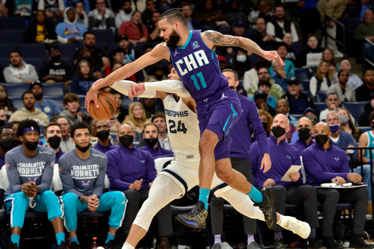
[{"label": "leaping bearded player in purple CHA 11 uniform", "polygon": [[[215,47],[238,46],[284,65],[282,59],[276,51],[264,51],[247,38],[222,35],[216,31],[188,31],[181,9],[166,11],[160,18],[159,28],[166,43],[158,44],[151,52],[96,81],[86,95],[86,108],[89,109],[88,103],[91,100],[98,107],[96,91],[100,88],[127,78],[161,59],[169,60],[177,68],[184,86],[196,101],[201,133],[199,202],[190,213],[179,215],[178,220],[189,227],[205,226],[209,188],[215,171],[225,183],[251,197],[255,206],[263,211],[267,226],[275,227],[274,190],[255,189],[241,173],[231,167],[229,131],[240,118],[241,106],[237,94],[227,87],[228,81],[220,72]],[[144,85],[135,84],[129,91],[129,97],[138,96],[144,90]],[[264,156],[261,169],[264,168],[266,172],[270,167],[269,156]]]}]

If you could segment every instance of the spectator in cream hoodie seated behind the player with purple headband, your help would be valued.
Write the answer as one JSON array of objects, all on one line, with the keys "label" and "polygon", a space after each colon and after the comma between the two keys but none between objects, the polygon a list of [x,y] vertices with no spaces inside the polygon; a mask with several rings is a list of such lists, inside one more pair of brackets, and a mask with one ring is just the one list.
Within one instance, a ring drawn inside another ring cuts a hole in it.
[{"label": "spectator in cream hoodie seated behind the player with purple headband", "polygon": [[30,118],[35,120],[39,125],[46,126],[49,123],[47,114],[35,107],[35,96],[31,91],[25,91],[22,94],[22,102],[25,107],[13,112],[9,118],[9,122],[22,121]]}]

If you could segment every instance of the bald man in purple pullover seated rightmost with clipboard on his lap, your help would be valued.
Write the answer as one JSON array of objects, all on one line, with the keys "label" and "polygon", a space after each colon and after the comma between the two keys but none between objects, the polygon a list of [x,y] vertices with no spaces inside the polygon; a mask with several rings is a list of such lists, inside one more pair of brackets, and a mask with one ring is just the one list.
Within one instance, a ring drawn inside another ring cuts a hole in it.
[{"label": "bald man in purple pullover seated rightmost with clipboard on his lap", "polygon": [[[306,172],[306,184],[321,186],[322,183],[358,183],[362,177],[349,172],[346,152],[334,146],[329,140],[330,127],[326,122],[319,122],[314,127],[316,143],[301,153]],[[271,156],[271,155],[270,155]],[[353,217],[353,236],[349,241],[350,248],[374,248],[374,244],[362,239],[368,208],[369,192],[364,187],[335,189],[316,189],[318,201],[323,203],[323,244],[327,249],[343,249],[332,237],[332,222],[338,202],[349,202],[355,205]]]}]

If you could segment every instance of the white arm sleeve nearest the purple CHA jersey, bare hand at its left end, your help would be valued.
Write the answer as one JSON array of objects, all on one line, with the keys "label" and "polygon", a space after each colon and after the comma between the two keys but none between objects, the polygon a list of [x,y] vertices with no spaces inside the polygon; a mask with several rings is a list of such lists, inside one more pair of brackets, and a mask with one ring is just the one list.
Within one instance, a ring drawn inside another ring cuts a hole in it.
[{"label": "white arm sleeve nearest the purple CHA jersey, bare hand at its left end", "polygon": [[145,90],[164,91],[166,93],[176,93],[178,96],[187,98],[191,94],[184,88],[182,81],[179,80],[163,80],[158,82],[145,82]]}]

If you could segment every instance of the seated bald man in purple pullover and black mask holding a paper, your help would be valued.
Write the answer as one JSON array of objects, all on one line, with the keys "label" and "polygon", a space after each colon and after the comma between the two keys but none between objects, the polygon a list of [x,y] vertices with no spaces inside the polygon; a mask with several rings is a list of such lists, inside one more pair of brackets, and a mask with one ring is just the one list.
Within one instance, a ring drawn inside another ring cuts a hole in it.
[{"label": "seated bald man in purple pullover and black mask holding a paper", "polygon": [[[294,146],[286,141],[286,133],[289,131],[289,120],[283,114],[274,117],[271,126],[272,132],[267,138],[272,161],[272,170],[263,172],[261,170],[262,153],[257,142],[253,143],[249,153],[251,155],[251,169],[253,175],[253,185],[258,189],[273,186],[276,197],[274,206],[279,214],[285,213],[285,203],[302,204],[306,222],[310,225],[310,235],[308,237],[308,248],[325,248],[316,239],[316,227],[318,227],[317,217],[317,195],[312,186],[303,185],[303,177],[300,172],[289,174],[289,181],[281,181],[283,175],[291,165],[301,165],[300,153]],[[283,228],[276,225],[274,228],[274,248],[285,249],[283,243]]]}]

